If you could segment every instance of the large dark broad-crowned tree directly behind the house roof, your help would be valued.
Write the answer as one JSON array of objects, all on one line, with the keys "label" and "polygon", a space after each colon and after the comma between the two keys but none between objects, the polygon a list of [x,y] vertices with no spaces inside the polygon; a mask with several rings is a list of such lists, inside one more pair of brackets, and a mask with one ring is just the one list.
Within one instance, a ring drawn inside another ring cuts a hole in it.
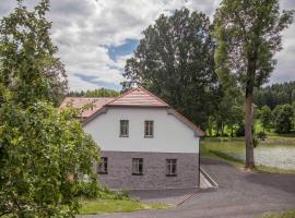
[{"label": "large dark broad-crowned tree directly behind the house roof", "polygon": [[204,13],[184,9],[161,15],[127,60],[123,89],[143,86],[205,128],[220,100],[213,51]]}]

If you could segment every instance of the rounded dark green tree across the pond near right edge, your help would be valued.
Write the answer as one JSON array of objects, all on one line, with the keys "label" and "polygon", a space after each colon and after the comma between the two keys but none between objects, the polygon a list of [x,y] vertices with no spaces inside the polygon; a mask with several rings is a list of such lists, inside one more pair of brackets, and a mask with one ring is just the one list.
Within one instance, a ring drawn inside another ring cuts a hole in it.
[{"label": "rounded dark green tree across the pond near right edge", "polygon": [[292,130],[293,109],[291,105],[276,106],[273,110],[274,129],[278,133],[290,133]]}]

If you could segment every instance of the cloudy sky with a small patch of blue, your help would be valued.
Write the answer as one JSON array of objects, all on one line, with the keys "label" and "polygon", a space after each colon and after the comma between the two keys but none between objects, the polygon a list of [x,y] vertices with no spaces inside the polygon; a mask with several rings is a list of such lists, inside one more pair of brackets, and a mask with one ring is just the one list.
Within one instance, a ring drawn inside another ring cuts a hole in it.
[{"label": "cloudy sky with a small patch of blue", "polygon": [[[32,8],[38,1],[24,2]],[[281,9],[295,10],[295,0],[280,3]],[[220,0],[51,0],[51,38],[66,64],[70,90],[119,90],[126,60],[132,57],[142,31],[160,14],[188,8],[212,20],[219,4]],[[0,0],[0,17],[14,7],[14,0]],[[283,32],[283,50],[275,58],[269,84],[295,81],[295,23]]]}]

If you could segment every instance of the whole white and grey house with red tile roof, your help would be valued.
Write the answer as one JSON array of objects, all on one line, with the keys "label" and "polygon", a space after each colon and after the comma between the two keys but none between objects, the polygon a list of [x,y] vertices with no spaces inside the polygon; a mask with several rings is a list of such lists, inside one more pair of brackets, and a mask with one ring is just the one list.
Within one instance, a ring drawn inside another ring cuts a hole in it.
[{"label": "whole white and grey house with red tile roof", "polygon": [[101,147],[97,173],[119,190],[199,186],[199,141],[204,132],[142,87],[117,98],[66,98],[62,107],[94,102],[82,114]]}]

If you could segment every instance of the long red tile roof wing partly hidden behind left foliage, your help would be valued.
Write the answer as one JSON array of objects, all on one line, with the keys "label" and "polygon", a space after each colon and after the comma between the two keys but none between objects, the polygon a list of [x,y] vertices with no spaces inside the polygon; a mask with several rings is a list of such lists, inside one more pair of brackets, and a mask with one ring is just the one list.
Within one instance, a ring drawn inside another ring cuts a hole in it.
[{"label": "long red tile roof wing partly hidden behind left foliage", "polygon": [[72,104],[73,108],[82,108],[87,104],[93,104],[93,108],[85,110],[82,112],[82,120],[85,118],[91,117],[102,107],[104,107],[109,101],[114,100],[115,98],[85,98],[85,97],[67,97],[62,101],[59,108],[69,107]]}]

